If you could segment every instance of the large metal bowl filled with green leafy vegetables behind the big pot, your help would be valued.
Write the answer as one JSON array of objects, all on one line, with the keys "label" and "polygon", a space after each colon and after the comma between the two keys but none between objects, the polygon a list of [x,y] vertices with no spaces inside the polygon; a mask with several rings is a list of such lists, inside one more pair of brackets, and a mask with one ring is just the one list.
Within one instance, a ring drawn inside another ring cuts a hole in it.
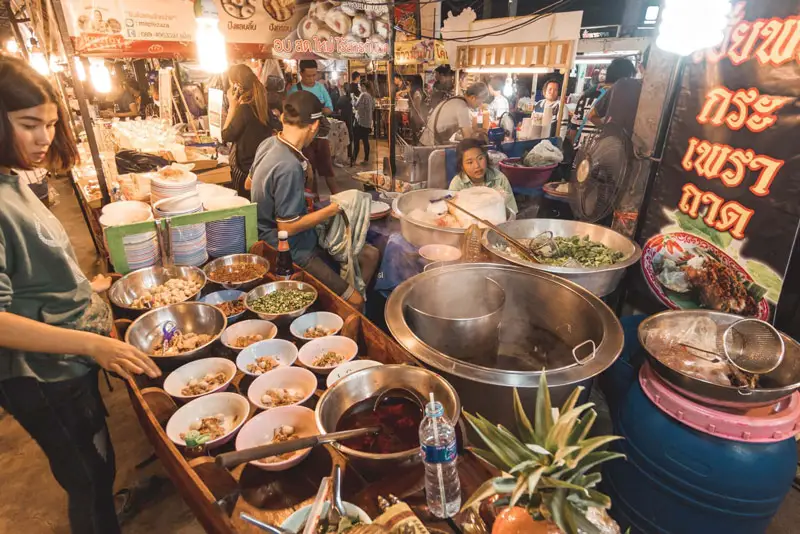
[{"label": "large metal bowl filled with green leafy vegetables behind the big pot", "polygon": [[528,269],[553,273],[585,287],[598,297],[612,293],[625,276],[625,270],[638,262],[642,256],[642,249],[639,245],[610,228],[596,224],[560,219],[526,219],[503,223],[499,226],[505,233],[516,239],[532,239],[542,232],[550,231],[555,237],[589,236],[592,241],[622,252],[624,254],[622,261],[607,267],[556,267],[542,263],[530,263],[498,250],[495,245],[502,243],[503,238],[491,229],[484,232],[481,243],[494,258]]}]

